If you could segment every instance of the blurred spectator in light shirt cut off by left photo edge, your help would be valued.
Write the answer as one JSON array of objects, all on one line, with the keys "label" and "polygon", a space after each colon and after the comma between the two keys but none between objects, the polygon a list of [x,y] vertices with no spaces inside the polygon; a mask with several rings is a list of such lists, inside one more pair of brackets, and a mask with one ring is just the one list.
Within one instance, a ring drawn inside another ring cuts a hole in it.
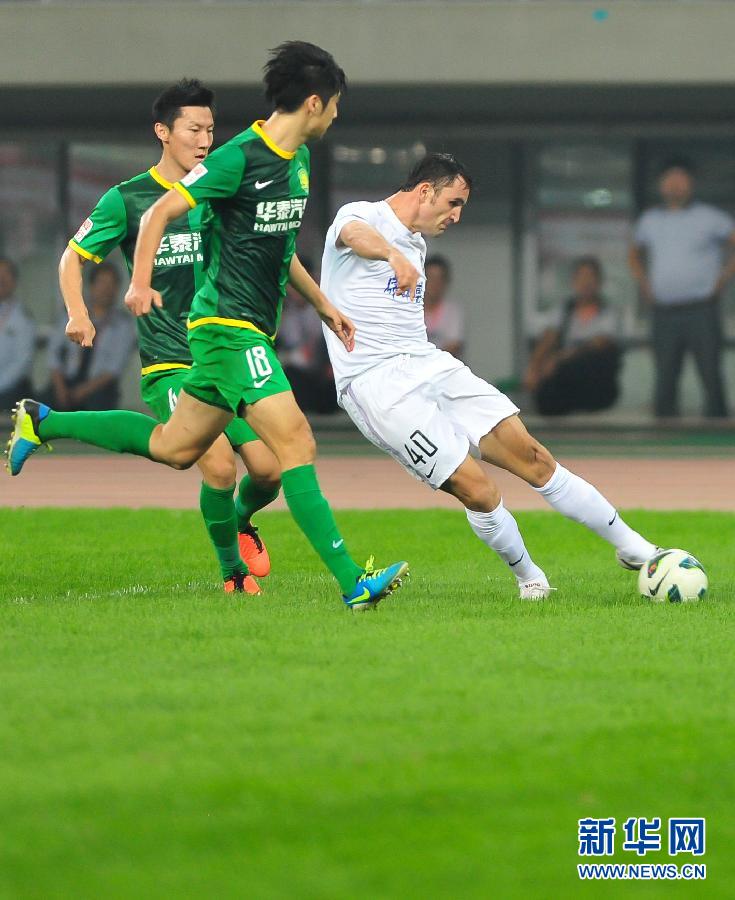
[{"label": "blurred spectator in light shirt cut off by left photo edge", "polygon": [[0,258],[0,412],[32,394],[36,326],[17,294],[18,270]]}]

